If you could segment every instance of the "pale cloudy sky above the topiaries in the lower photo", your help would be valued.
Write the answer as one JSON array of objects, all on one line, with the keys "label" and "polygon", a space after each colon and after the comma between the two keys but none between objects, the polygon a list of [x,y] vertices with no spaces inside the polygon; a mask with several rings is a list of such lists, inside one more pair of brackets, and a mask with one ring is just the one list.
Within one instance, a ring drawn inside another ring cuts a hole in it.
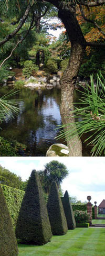
[{"label": "pale cloudy sky above the topiaries in the lower photo", "polygon": [[105,199],[105,158],[104,157],[1,157],[0,164],[9,171],[28,179],[33,169],[43,170],[52,160],[64,163],[69,175],[61,184],[70,196],[85,202],[91,196],[91,203],[97,206]]}]

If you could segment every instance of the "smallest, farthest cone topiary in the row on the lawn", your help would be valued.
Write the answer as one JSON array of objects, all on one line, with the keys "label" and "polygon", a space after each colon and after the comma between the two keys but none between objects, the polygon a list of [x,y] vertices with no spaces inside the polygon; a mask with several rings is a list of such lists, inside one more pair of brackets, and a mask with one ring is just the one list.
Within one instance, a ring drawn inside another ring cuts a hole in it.
[{"label": "smallest, farthest cone topiary in the row on the lawn", "polygon": [[64,212],[67,220],[68,230],[74,230],[76,227],[76,221],[74,217],[74,212],[72,211],[72,205],[66,190],[64,197],[62,197],[62,204],[64,206]]}]

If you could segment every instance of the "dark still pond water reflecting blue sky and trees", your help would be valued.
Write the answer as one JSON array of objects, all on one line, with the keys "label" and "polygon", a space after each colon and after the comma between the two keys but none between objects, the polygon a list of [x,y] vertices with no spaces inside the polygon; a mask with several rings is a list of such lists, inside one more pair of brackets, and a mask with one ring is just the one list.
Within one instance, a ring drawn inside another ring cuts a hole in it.
[{"label": "dark still pond water reflecting blue sky and trees", "polygon": [[[10,89],[10,86],[1,87],[0,96]],[[0,135],[24,143],[27,147],[25,156],[46,156],[51,144],[62,143],[54,139],[59,134],[57,125],[61,124],[60,89],[36,91],[25,88],[14,98],[20,99],[19,114],[12,120],[6,117]]]}]

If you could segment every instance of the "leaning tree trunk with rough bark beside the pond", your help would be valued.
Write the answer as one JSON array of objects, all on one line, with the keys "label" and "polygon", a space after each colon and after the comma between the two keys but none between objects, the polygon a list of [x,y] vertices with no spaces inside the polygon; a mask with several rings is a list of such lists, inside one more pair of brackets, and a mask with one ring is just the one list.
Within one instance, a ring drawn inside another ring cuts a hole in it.
[{"label": "leaning tree trunk with rough bark beside the pond", "polygon": [[[76,84],[78,71],[85,53],[86,43],[81,32],[80,26],[76,19],[75,8],[64,8],[58,12],[58,17],[62,20],[69,35],[71,42],[71,54],[67,70],[61,79],[61,106],[60,114],[63,124],[74,122],[74,129],[76,129],[74,117],[71,111],[74,109],[73,96]],[[81,157],[82,144],[77,135],[75,139],[72,138],[68,142],[69,156]]]}]

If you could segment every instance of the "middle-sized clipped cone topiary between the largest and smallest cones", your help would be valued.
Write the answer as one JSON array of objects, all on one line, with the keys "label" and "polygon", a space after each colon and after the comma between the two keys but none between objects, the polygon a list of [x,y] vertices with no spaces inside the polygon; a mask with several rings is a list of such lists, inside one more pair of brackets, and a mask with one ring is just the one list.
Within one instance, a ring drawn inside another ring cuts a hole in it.
[{"label": "middle-sized clipped cone topiary between the largest and smallest cones", "polygon": [[47,210],[53,235],[66,234],[68,230],[67,221],[55,181],[52,182],[50,188]]}]

